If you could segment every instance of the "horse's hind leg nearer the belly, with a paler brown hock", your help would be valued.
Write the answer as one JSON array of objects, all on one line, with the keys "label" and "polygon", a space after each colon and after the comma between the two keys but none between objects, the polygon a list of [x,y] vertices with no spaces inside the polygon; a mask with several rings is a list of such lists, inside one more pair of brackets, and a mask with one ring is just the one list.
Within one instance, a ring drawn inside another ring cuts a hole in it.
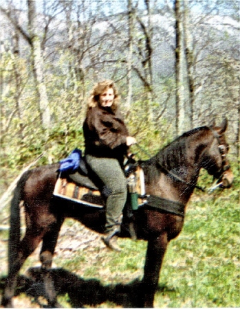
[{"label": "horse's hind leg nearer the belly, with a paler brown hock", "polygon": [[54,249],[58,240],[58,233],[63,224],[63,219],[58,219],[53,225],[51,225],[50,231],[48,231],[43,237],[43,247],[40,253],[40,260],[42,263],[43,285],[45,290],[45,297],[51,308],[59,308],[56,301],[56,290],[54,288],[54,280],[52,279],[52,273],[50,271],[52,266],[52,258],[54,255]]}]

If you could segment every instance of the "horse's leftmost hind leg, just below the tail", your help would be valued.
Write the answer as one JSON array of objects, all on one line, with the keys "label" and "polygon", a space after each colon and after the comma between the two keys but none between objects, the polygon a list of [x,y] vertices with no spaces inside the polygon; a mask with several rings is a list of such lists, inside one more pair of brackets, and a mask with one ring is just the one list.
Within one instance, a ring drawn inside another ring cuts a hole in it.
[{"label": "horse's leftmost hind leg, just below the tail", "polygon": [[37,236],[35,234],[34,236],[32,230],[27,229],[23,240],[19,244],[17,255],[12,255],[12,248],[9,247],[8,278],[6,279],[6,286],[1,301],[2,306],[5,308],[13,308],[12,297],[14,297],[14,290],[17,286],[17,275],[25,260],[36,249],[42,238],[43,233],[39,233]]}]

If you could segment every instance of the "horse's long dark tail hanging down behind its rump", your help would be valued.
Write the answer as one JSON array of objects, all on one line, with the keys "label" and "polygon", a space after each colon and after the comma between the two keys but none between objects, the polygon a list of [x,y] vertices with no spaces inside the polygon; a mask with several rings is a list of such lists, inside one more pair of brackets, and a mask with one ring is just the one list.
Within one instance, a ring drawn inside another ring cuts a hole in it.
[{"label": "horse's long dark tail hanging down behind its rump", "polygon": [[23,199],[23,190],[26,181],[31,171],[25,172],[17,183],[17,187],[14,190],[14,195],[11,201],[10,208],[10,231],[8,241],[8,271],[9,273],[14,269],[14,262],[16,262],[19,244],[21,238],[21,221],[20,221],[20,202]]}]

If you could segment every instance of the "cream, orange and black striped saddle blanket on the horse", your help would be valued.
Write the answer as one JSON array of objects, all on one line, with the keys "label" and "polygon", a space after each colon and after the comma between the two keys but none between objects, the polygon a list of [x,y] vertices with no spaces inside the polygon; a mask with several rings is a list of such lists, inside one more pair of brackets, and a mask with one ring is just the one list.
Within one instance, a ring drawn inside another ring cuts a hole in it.
[{"label": "cream, orange and black striped saddle blanket on the horse", "polygon": [[[127,179],[129,192],[133,192],[130,184],[132,181],[131,176]],[[134,172],[134,177],[134,192],[138,194],[138,204],[142,205],[144,203],[144,198],[141,198],[141,196],[145,195],[144,172],[142,168],[137,168]],[[56,181],[53,195],[90,207],[103,208],[105,205],[105,198],[99,190],[92,190],[92,188],[69,182],[69,180],[61,177],[58,177]]]}]

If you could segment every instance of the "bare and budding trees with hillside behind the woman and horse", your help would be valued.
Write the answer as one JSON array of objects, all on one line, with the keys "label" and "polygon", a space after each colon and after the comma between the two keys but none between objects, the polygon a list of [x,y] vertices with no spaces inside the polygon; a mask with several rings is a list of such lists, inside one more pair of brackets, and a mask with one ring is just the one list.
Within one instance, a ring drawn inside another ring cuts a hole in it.
[{"label": "bare and budding trees with hillside behind the woman and horse", "polygon": [[84,149],[86,101],[103,79],[152,155],[228,117],[239,158],[238,0],[1,1],[0,67],[0,194],[42,153],[39,164]]}]

